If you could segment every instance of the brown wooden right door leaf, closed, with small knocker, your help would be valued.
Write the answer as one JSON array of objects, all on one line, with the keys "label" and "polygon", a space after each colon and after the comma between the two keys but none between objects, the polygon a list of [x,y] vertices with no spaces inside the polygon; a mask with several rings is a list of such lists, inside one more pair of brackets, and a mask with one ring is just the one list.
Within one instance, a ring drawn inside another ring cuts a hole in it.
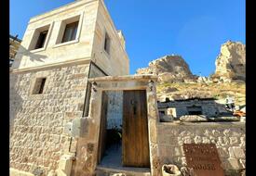
[{"label": "brown wooden right door leaf, closed, with small knocker", "polygon": [[146,91],[124,91],[122,163],[129,167],[149,167]]}]

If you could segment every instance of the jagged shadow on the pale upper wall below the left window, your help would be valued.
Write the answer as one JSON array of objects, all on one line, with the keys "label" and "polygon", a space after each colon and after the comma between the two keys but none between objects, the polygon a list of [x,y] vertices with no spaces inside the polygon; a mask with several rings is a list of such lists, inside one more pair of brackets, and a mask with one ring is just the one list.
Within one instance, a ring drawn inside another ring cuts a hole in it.
[{"label": "jagged shadow on the pale upper wall below the left window", "polygon": [[[35,51],[35,50],[34,50]],[[13,69],[20,68],[20,62],[22,57],[28,57],[32,62],[44,62],[44,60],[47,58],[45,55],[39,55],[34,52],[31,52],[31,50],[26,49],[24,46],[20,45],[19,50],[17,52],[17,55],[14,59],[13,63]]]}]

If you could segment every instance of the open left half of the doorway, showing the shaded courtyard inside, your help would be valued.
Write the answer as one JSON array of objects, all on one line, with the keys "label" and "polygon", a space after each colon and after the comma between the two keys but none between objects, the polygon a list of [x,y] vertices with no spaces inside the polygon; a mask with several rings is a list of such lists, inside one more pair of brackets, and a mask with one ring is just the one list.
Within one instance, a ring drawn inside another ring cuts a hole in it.
[{"label": "open left half of the doorway, showing the shaded courtyard inside", "polygon": [[122,166],[123,91],[103,91],[98,163]]}]

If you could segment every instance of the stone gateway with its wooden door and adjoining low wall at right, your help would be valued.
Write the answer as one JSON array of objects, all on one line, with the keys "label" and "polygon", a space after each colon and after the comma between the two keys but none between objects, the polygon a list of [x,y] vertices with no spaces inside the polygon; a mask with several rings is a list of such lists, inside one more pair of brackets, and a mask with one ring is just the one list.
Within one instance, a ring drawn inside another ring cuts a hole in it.
[{"label": "stone gateway with its wooden door and adjoining low wall at right", "polygon": [[[76,159],[84,157],[88,172],[160,176],[164,164],[179,169],[187,166],[184,144],[216,145],[225,175],[238,176],[245,170],[244,122],[162,122],[155,94],[157,77],[153,75],[98,77],[89,82],[88,116],[74,119],[71,132],[67,131],[87,144]],[[122,137],[108,147],[115,139],[108,133],[115,129],[113,123],[121,126],[117,132]]]}]

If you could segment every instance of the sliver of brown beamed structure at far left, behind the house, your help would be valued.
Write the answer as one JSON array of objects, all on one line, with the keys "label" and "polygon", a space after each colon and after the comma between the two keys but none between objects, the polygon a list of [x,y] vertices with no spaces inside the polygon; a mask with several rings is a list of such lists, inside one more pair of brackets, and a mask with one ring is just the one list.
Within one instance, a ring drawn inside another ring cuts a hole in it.
[{"label": "sliver of brown beamed structure at far left, behind the house", "polygon": [[18,38],[18,35],[15,37],[12,35],[9,35],[9,66],[12,66],[12,63],[14,61],[14,57],[17,54],[17,51],[20,47],[21,40]]}]

